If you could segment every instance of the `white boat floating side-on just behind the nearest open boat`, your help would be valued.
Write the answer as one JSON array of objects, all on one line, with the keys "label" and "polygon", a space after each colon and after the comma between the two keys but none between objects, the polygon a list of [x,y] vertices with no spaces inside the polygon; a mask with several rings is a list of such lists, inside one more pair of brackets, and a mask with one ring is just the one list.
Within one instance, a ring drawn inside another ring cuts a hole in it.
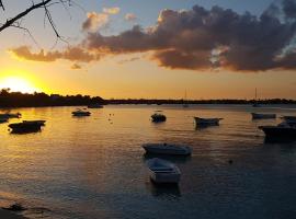
[{"label": "white boat floating side-on just behind the nearest open boat", "polygon": [[147,153],[158,153],[168,155],[190,155],[192,149],[189,146],[173,143],[144,143],[141,146]]}]

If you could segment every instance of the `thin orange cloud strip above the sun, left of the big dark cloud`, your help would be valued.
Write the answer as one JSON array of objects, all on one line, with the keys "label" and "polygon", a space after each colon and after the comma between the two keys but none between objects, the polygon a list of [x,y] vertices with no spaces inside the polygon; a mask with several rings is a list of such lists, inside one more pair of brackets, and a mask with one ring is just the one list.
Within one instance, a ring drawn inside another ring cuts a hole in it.
[{"label": "thin orange cloud strip above the sun, left of the big dark cloud", "polygon": [[62,51],[48,51],[41,50],[39,53],[32,53],[30,47],[21,46],[12,48],[10,51],[19,58],[31,60],[31,61],[44,61],[53,62],[58,59],[65,59],[69,61],[90,62],[100,60],[101,55],[99,53],[91,53],[79,47],[68,47]]}]

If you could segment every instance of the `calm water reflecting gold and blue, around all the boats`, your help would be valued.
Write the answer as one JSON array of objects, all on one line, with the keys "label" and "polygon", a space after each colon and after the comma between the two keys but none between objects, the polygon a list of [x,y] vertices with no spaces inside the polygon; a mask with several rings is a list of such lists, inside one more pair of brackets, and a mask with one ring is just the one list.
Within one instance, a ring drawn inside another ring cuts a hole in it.
[{"label": "calm water reflecting gold and blue, around all the boats", "polygon": [[[296,218],[296,143],[264,143],[257,127],[280,119],[250,116],[296,115],[295,106],[110,105],[84,118],[71,117],[73,110],[18,110],[23,119],[47,120],[36,134],[0,124],[1,205],[20,201],[32,218]],[[168,120],[151,124],[155,110]],[[193,116],[225,119],[195,129]],[[159,141],[193,148],[191,158],[168,158],[182,172],[179,186],[149,181],[140,145]]]}]

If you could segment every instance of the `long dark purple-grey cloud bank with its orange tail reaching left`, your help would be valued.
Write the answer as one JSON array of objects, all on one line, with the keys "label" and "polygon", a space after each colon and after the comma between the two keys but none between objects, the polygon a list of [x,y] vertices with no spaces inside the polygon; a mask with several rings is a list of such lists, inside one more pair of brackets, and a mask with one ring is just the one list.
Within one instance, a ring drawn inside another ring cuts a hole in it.
[{"label": "long dark purple-grey cloud bank with its orange tail reaching left", "polygon": [[[109,36],[89,32],[79,51],[87,60],[100,60],[106,55],[147,53],[152,54],[151,59],[159,66],[171,69],[296,69],[294,5],[295,0],[283,0],[281,4],[271,4],[260,16],[250,12],[239,14],[217,5],[209,10],[200,5],[182,11],[166,9],[148,28],[135,25]],[[14,54],[35,60],[53,61],[57,57],[70,60],[65,56],[67,50],[69,48],[31,54],[19,48]]]}]

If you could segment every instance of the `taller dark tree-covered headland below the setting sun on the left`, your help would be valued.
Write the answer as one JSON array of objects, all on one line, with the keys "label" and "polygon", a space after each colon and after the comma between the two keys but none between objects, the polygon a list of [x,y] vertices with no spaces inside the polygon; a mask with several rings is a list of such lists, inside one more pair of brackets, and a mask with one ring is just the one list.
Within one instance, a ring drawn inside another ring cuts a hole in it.
[{"label": "taller dark tree-covered headland below the setting sun on the left", "polygon": [[0,107],[39,107],[39,106],[79,106],[90,104],[105,104],[100,96],[89,95],[59,95],[46,93],[10,92],[9,89],[0,91]]}]

